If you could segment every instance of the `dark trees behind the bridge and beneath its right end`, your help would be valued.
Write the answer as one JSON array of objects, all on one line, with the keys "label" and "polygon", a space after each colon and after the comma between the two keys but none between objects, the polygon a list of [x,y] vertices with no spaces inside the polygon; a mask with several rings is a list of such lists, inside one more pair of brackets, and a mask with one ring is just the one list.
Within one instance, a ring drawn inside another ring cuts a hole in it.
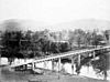
[{"label": "dark trees behind the bridge and beneath its right end", "polygon": [[[76,29],[74,31],[58,31],[51,32],[50,30],[43,31],[8,31],[1,32],[1,57],[7,57],[10,61],[14,58],[28,59],[51,55],[55,53],[63,53],[77,49],[89,49],[102,47],[109,43],[110,30],[99,33],[98,30],[84,31]],[[100,53],[103,54],[103,53]],[[91,64],[95,69],[99,69],[107,75],[108,58],[109,55],[100,55],[99,60],[92,61]],[[90,61],[81,57],[81,65],[87,65]],[[96,64],[99,63],[99,64]],[[77,72],[80,70],[77,66]],[[103,68],[105,66],[105,68]]]}]

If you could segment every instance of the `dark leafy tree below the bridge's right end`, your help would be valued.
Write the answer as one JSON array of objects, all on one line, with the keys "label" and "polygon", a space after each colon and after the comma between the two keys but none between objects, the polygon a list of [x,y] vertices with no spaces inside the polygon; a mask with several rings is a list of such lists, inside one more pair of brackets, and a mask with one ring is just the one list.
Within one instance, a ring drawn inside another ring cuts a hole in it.
[{"label": "dark leafy tree below the bridge's right end", "polygon": [[[109,53],[101,53],[101,55],[99,55],[99,60],[95,60],[91,62],[95,71],[98,73],[102,73],[103,74],[103,79],[107,80],[107,71],[110,70],[110,55]],[[98,69],[98,70],[97,70]]]}]

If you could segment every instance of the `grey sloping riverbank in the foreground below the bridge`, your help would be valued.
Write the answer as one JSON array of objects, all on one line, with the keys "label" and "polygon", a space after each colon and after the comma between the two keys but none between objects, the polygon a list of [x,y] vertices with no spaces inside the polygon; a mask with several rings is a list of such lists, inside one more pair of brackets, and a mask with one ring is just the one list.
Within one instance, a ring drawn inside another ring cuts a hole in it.
[{"label": "grey sloping riverbank in the foreground below the bridge", "polygon": [[31,74],[10,71],[8,66],[0,68],[0,82],[109,82],[79,75],[63,74],[45,70],[45,73]]}]

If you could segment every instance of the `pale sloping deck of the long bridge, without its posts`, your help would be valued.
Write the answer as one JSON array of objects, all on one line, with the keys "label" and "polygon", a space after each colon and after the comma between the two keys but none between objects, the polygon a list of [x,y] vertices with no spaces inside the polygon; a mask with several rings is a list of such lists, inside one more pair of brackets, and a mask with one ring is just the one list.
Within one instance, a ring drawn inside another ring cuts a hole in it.
[{"label": "pale sloping deck of the long bridge, without its posts", "polygon": [[102,49],[110,49],[110,47],[102,47],[102,48],[96,48],[96,49],[90,49],[90,50],[86,49],[86,50],[69,51],[69,52],[65,52],[65,53],[58,53],[58,54],[44,57],[41,59],[33,59],[32,61],[26,61],[24,63],[19,63],[19,64],[12,64],[10,66],[15,68],[15,66],[24,65],[24,64],[30,64],[30,63],[34,63],[34,62],[43,62],[43,61],[53,60],[53,59],[57,59],[57,58],[64,58],[64,57],[68,57],[68,55],[76,57],[81,53],[94,52],[95,50],[102,50]]}]

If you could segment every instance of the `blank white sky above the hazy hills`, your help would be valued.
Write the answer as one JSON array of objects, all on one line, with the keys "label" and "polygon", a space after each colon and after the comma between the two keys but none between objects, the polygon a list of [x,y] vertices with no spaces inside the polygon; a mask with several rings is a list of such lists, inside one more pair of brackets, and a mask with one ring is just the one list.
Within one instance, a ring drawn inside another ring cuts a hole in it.
[{"label": "blank white sky above the hazy hills", "polygon": [[90,18],[110,20],[110,0],[0,0],[0,21],[24,19],[53,24]]}]

